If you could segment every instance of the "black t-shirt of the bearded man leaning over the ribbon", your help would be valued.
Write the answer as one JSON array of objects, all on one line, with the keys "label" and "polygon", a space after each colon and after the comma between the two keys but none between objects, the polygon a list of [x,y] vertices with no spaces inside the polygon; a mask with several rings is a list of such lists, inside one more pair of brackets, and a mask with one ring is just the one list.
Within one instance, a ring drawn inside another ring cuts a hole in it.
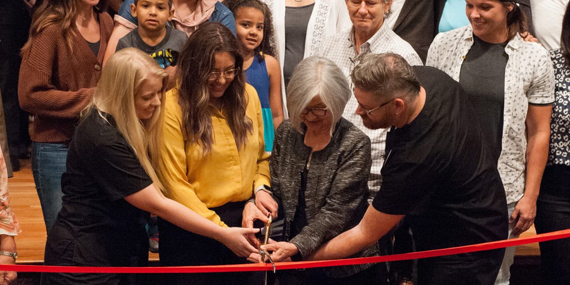
[{"label": "black t-shirt of the bearded man leaning over the ribbon", "polygon": [[372,205],[407,215],[418,251],[507,238],[507,202],[463,89],[444,72],[414,66],[426,102],[386,138],[382,186]]}]

